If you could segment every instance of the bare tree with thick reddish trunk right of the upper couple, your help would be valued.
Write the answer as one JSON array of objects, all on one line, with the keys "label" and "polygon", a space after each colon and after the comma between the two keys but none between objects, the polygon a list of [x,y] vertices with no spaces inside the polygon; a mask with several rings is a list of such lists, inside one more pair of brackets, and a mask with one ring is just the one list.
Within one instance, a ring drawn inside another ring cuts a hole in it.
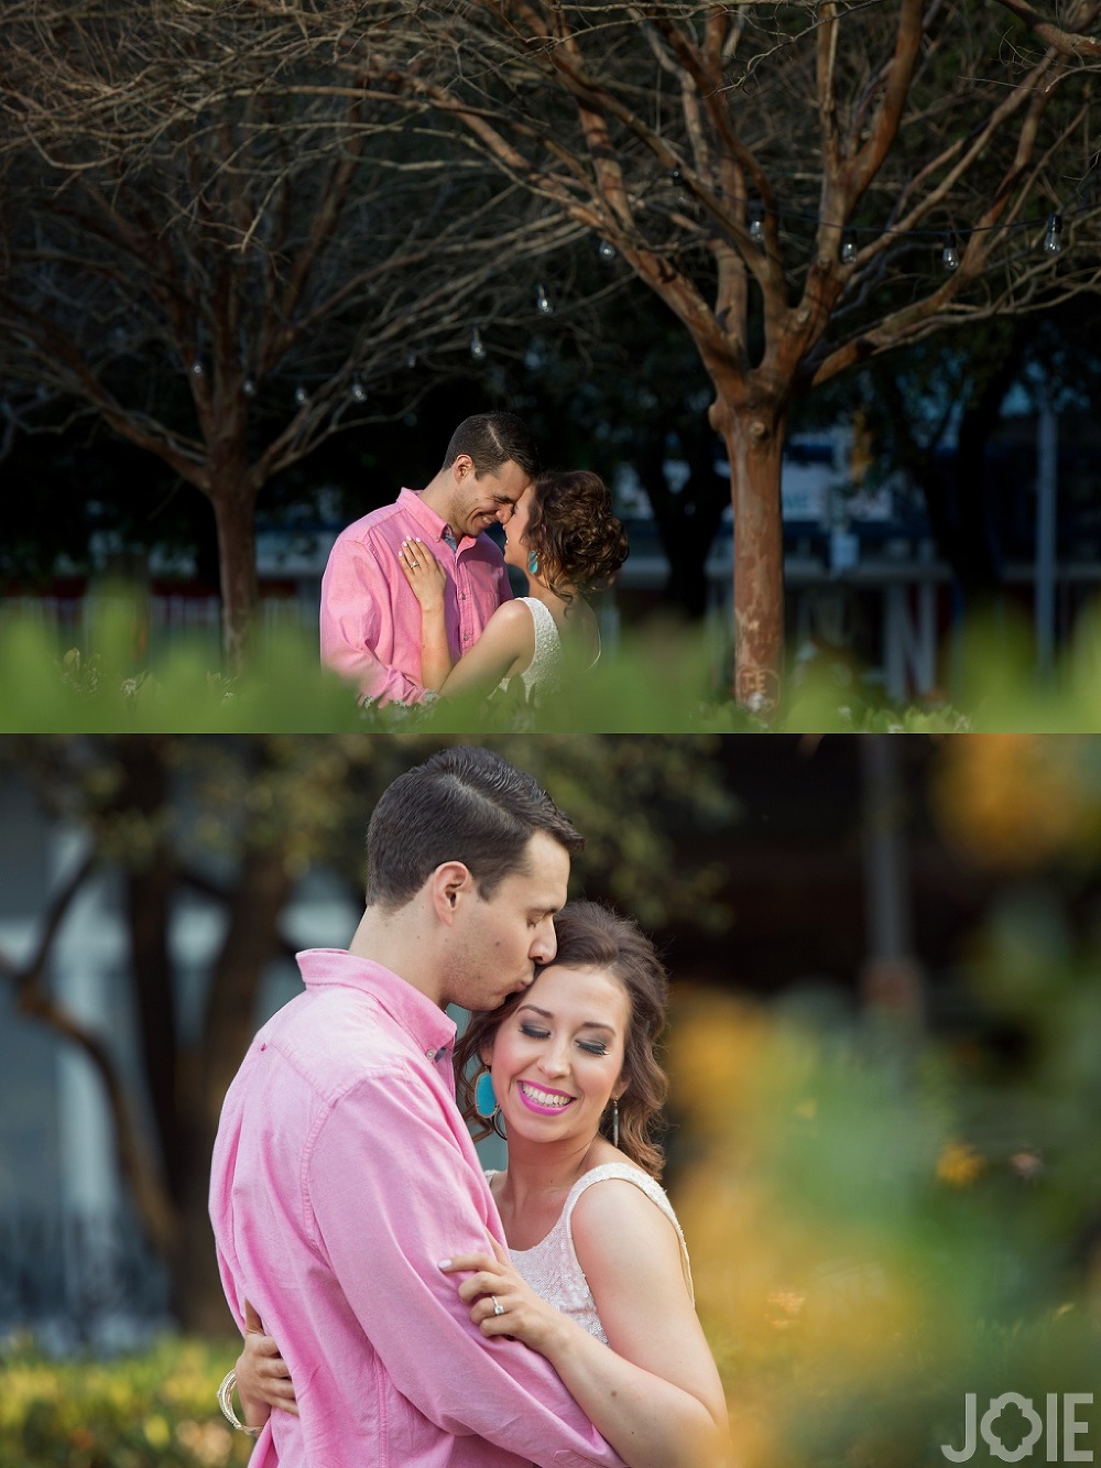
[{"label": "bare tree with thick reddish trunk right of the upper couple", "polygon": [[1039,46],[1023,28],[1036,10],[1016,0],[395,13],[410,98],[615,250],[690,332],[730,458],[734,691],[774,708],[793,401],[901,344],[1101,279],[1088,194],[1075,197],[1092,166],[1080,57],[1098,6],[1061,6]]}]

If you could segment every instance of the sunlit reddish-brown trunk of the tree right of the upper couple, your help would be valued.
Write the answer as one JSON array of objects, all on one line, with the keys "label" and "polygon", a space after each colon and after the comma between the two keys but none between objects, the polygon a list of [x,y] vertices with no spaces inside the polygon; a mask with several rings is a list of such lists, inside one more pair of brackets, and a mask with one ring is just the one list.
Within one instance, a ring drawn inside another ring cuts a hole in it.
[{"label": "sunlit reddish-brown trunk of the tree right of the upper couple", "polygon": [[780,471],[784,417],[718,398],[711,423],[730,455],[734,508],[734,687],[737,703],[768,716],[784,672],[784,524]]}]

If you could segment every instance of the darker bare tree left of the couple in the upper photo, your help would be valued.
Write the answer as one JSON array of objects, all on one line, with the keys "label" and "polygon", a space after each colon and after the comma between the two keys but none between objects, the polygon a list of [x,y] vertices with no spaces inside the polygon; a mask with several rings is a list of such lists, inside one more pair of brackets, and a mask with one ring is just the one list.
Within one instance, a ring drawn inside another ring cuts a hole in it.
[{"label": "darker bare tree left of the couple in the upper photo", "polygon": [[348,19],[250,0],[0,15],[0,433],[91,411],[207,496],[230,668],[263,486],[371,421],[376,389],[411,405],[468,363],[471,321],[536,320],[509,267],[580,232],[426,107],[396,113],[393,81],[367,87],[390,18],[360,7],[351,47]]}]

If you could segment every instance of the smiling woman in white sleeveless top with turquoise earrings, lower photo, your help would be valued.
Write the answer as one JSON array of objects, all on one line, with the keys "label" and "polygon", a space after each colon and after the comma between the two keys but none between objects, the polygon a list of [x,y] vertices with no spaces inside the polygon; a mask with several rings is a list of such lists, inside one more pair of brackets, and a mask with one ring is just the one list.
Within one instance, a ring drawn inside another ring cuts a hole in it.
[{"label": "smiling woman in white sleeveless top with turquoise earrings, lower photo", "polygon": [[[555,929],[553,963],[476,1014],[455,1051],[468,1117],[477,1091],[479,1113],[492,1110],[508,1138],[508,1167],[489,1185],[509,1255],[457,1255],[440,1268],[483,1334],[520,1339],[552,1362],[630,1468],[718,1468],[722,1387],[650,1135],[666,1094],[655,1057],[665,972],[639,928],[596,903],[567,906]],[[474,1060],[484,1066],[477,1086]],[[482,1120],[476,1136],[487,1130]],[[238,1361],[252,1422],[264,1406],[294,1411],[275,1351],[250,1334]]]}]

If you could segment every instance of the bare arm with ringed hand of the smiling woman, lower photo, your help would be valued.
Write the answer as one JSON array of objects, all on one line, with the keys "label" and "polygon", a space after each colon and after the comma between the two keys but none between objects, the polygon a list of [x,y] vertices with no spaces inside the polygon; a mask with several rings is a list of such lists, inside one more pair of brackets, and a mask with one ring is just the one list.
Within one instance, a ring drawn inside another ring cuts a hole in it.
[{"label": "bare arm with ringed hand of the smiling woman, lower photo", "polygon": [[[592,1193],[603,1195],[600,1205],[580,1220]],[[502,1255],[448,1264],[451,1273],[477,1270],[459,1286],[471,1320],[486,1336],[515,1336],[545,1355],[630,1468],[719,1468],[727,1408],[672,1224],[633,1183],[609,1180],[578,1199],[573,1227],[606,1346],[534,1295]]]}]

